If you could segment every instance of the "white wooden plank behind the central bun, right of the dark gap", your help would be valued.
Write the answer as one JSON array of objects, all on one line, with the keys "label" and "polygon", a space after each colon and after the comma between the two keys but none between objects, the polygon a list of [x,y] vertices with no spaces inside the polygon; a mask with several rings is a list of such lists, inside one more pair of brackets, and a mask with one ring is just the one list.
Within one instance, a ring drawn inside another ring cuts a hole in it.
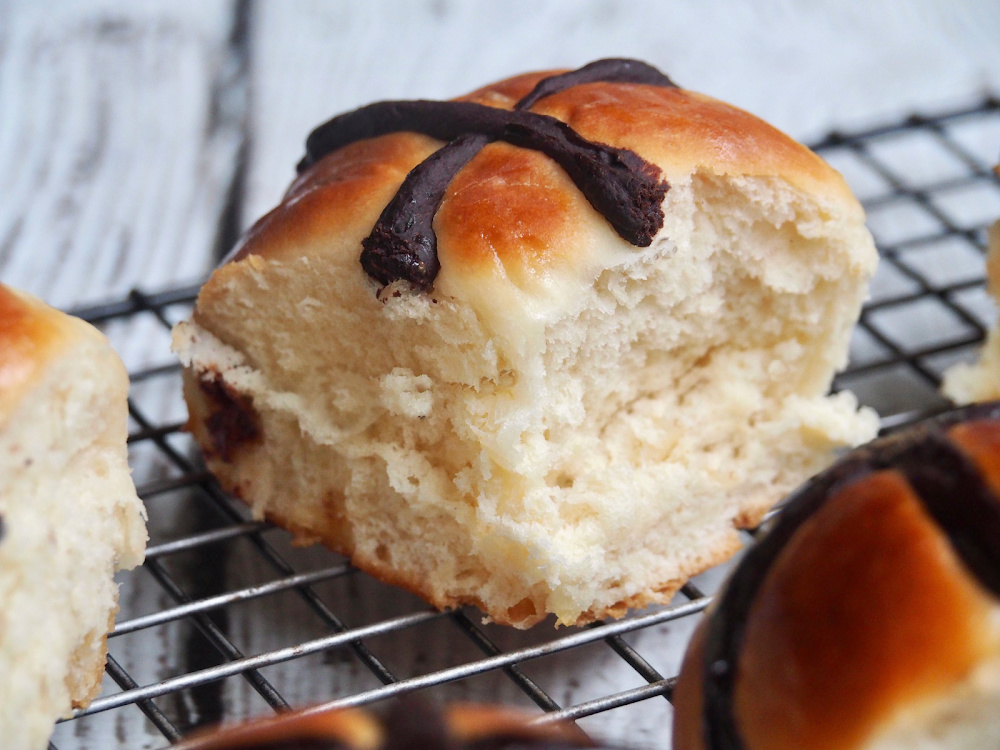
[{"label": "white wooden plank behind the central bun, right of the dark gap", "polygon": [[280,198],[312,127],[379,99],[446,98],[512,72],[638,57],[812,140],[995,89],[998,35],[1000,3],[951,0],[262,3],[244,221]]}]

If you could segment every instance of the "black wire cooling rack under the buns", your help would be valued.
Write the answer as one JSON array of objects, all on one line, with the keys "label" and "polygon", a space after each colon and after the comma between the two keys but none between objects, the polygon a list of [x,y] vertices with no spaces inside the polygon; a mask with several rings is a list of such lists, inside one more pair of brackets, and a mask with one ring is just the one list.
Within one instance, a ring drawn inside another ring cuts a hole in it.
[{"label": "black wire cooling rack under the buns", "polygon": [[[834,387],[876,408],[886,428],[945,408],[943,371],[974,358],[995,317],[983,254],[1000,217],[1000,104],[834,133],[814,148],[862,199],[882,256]],[[151,539],[145,564],[121,576],[103,692],[50,747],[164,747],[222,719],[412,691],[537,706],[541,720],[572,719],[600,738],[669,746],[683,648],[724,569],[669,606],[521,632],[471,610],[431,611],[332,553],[292,547],[218,488],[183,432],[168,334],[197,289],[74,311],[129,364],[130,458]]]}]

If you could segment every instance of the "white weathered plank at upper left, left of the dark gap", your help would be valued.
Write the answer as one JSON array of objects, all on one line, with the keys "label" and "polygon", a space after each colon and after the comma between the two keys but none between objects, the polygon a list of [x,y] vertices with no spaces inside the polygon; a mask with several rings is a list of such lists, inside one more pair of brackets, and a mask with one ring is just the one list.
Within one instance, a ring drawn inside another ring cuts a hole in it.
[{"label": "white weathered plank at upper left, left of the dark gap", "polygon": [[242,140],[232,5],[0,13],[0,278],[67,307],[200,277]]}]

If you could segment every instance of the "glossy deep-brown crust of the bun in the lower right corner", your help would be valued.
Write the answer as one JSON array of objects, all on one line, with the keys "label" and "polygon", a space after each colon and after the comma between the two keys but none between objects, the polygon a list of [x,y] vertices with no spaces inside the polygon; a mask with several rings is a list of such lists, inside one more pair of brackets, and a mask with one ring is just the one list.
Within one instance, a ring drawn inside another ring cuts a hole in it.
[{"label": "glossy deep-brown crust of the bun in the lower right corner", "polygon": [[[754,599],[733,692],[746,747],[856,746],[992,653],[995,606],[901,473],[844,486],[799,527]],[[704,629],[678,686],[679,750],[702,747]]]}]

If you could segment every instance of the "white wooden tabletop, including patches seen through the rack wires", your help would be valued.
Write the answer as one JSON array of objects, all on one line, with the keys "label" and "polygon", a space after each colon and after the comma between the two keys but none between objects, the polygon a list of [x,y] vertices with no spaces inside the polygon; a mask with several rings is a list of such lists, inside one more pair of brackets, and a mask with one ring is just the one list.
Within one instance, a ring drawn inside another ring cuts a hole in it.
[{"label": "white wooden tabletop, including patches seen through the rack wires", "polygon": [[[639,57],[683,86],[813,141],[834,128],[1000,92],[997,39],[1000,4],[993,1],[0,0],[0,279],[71,309],[133,288],[196,282],[278,200],[308,131],[377,99],[445,98],[524,70]],[[133,371],[170,361],[156,320],[112,324],[108,333]],[[183,419],[173,381],[136,389],[157,420]],[[169,475],[141,445],[132,457],[137,482]],[[184,502],[157,499],[150,513],[153,544],[201,522]],[[336,564],[318,550],[287,554],[308,569]],[[265,577],[260,562],[241,555],[179,563],[195,587],[189,594]],[[142,576],[123,578],[123,615],[175,606]],[[401,606],[363,577],[343,589],[328,595],[367,621]],[[251,602],[224,618],[225,629],[246,654],[326,632],[298,622],[297,606]],[[674,674],[689,630],[687,622],[667,623],[632,643]],[[551,628],[490,633],[503,648],[552,635]],[[402,675],[446,666],[458,648],[419,628],[376,640],[381,658]],[[140,685],[198,668],[198,648],[181,628],[112,641]],[[269,675],[289,702],[377,685],[353,657],[316,658],[315,670]],[[329,668],[338,661],[343,668]],[[626,672],[603,652],[581,648],[549,659],[543,674],[548,693],[572,706],[641,683]],[[109,693],[118,689],[108,681]],[[270,710],[238,680],[191,695],[164,709],[181,726]],[[510,681],[459,683],[452,696],[525,703]],[[609,740],[667,747],[669,705],[651,704],[583,725]],[[139,711],[123,709],[60,725],[55,742],[61,750],[145,748],[166,739]]]}]

